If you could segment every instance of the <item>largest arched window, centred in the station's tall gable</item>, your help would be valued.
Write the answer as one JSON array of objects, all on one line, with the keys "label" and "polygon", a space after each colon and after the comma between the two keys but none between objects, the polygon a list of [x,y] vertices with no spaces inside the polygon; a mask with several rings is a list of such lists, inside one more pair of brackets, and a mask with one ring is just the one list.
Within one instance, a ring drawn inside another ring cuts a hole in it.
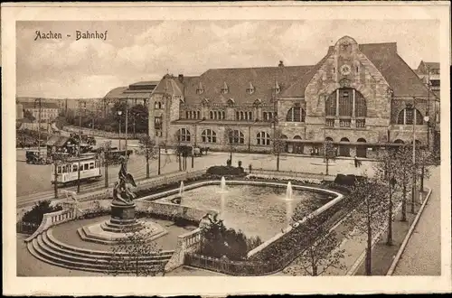
[{"label": "largest arched window, centred in the station's tall gable", "polygon": [[363,94],[353,88],[336,89],[325,99],[325,116],[367,116],[367,104]]}]

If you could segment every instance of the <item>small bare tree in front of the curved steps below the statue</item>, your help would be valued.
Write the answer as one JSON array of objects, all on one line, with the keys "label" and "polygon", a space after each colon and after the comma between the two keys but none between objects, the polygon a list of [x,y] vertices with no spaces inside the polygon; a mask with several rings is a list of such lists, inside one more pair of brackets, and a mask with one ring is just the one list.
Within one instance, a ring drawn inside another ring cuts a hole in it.
[{"label": "small bare tree in front of the curved steps below the statue", "polygon": [[[157,260],[149,262],[150,256],[161,251],[155,242],[147,242],[149,232],[124,230],[128,235],[111,248],[112,256],[108,262],[108,275],[155,276],[165,275],[165,263]],[[147,259],[147,261],[146,261]],[[155,264],[156,263],[156,264]]]}]

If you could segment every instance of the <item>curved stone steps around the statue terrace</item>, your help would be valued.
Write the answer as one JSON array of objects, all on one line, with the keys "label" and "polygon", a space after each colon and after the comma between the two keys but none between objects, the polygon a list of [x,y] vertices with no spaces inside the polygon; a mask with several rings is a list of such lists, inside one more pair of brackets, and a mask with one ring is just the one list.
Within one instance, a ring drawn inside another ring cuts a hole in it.
[{"label": "curved stone steps around the statue terrace", "polygon": [[[52,228],[35,237],[27,244],[30,253],[42,262],[60,267],[101,272],[107,274],[112,261],[111,251],[90,250],[81,247],[72,247],[62,243],[52,236]],[[173,250],[163,250],[149,256],[141,256],[141,264],[148,266],[162,266],[173,256]],[[127,259],[127,256],[124,256]],[[124,261],[121,261],[124,262]],[[117,273],[126,274],[130,270],[117,270]]]}]

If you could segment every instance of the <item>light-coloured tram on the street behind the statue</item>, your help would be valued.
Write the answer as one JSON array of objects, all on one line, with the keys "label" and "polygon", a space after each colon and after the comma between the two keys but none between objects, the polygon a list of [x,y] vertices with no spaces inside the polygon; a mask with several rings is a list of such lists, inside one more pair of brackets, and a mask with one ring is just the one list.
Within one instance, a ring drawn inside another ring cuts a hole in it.
[{"label": "light-coloured tram on the street behind the statue", "polygon": [[[56,166],[56,169],[55,169]],[[56,170],[56,183],[57,184],[71,184],[77,182],[79,179],[79,158],[71,158],[62,164],[52,165],[52,184],[55,183],[55,170]],[[80,154],[80,182],[89,182],[93,180],[99,180],[102,177],[100,172],[100,160],[99,157],[93,154]]]}]

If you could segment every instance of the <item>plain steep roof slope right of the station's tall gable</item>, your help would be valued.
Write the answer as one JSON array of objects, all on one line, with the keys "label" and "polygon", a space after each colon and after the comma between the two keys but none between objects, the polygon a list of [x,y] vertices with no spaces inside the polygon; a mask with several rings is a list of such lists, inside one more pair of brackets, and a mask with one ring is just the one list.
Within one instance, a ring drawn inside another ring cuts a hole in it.
[{"label": "plain steep roof slope right of the station's tall gable", "polygon": [[397,53],[396,42],[360,44],[360,51],[381,72],[395,97],[428,96],[428,88]]}]

